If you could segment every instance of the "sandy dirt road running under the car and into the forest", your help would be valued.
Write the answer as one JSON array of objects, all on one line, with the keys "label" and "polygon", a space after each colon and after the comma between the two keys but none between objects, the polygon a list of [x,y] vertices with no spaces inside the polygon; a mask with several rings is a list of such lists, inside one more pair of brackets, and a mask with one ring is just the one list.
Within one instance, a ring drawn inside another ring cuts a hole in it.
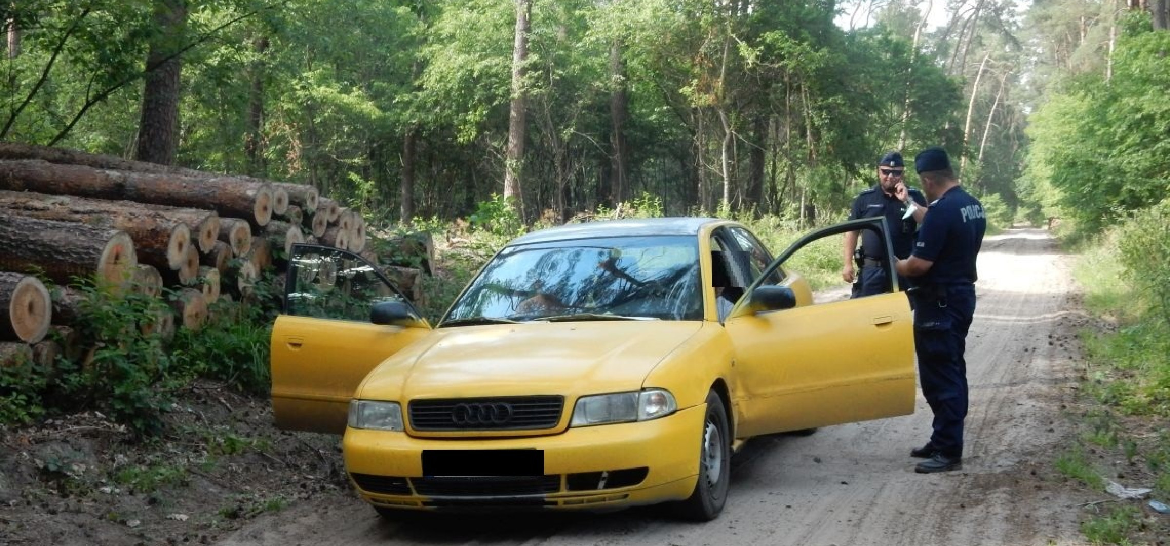
[{"label": "sandy dirt road running under the car and into the forest", "polygon": [[910,448],[930,409],[749,443],[720,519],[654,509],[381,521],[356,497],[263,516],[223,545],[1075,545],[1079,507],[1052,470],[1083,322],[1062,255],[1044,230],[989,237],[968,339],[971,409],[959,472],[916,475]]}]

